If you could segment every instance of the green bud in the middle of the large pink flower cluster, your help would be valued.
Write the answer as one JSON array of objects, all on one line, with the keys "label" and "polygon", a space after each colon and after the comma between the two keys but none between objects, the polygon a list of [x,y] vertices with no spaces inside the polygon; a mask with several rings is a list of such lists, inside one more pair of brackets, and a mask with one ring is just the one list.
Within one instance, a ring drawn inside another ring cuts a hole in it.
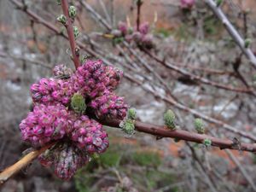
[{"label": "green bud in the middle of the large pink flower cluster", "polygon": [[73,108],[73,110],[76,113],[79,113],[79,114],[84,113],[84,111],[86,110],[86,104],[85,104],[84,97],[81,94],[75,93],[72,96],[72,98],[71,98],[71,108]]}]

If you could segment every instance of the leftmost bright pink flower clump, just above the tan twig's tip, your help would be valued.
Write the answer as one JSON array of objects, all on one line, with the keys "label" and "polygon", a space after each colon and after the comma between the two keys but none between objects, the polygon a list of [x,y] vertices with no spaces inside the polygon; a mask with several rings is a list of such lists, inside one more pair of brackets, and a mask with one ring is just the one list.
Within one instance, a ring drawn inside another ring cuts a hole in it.
[{"label": "leftmost bright pink flower clump, just above the tan twig's tip", "polygon": [[67,109],[60,103],[38,104],[20,123],[22,138],[33,147],[59,140],[70,129],[71,122],[67,119]]}]

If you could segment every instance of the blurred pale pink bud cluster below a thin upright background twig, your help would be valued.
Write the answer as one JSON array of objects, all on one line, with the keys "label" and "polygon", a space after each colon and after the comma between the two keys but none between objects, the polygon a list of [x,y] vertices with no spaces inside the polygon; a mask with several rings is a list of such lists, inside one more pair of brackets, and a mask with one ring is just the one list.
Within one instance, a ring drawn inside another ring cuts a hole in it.
[{"label": "blurred pale pink bud cluster below a thin upright background twig", "polygon": [[137,26],[131,27],[125,22],[120,21],[118,29],[112,31],[115,40],[124,40],[129,43],[135,43],[145,49],[152,49],[154,47],[154,37],[150,33],[150,26],[148,22],[142,23],[138,28]]}]

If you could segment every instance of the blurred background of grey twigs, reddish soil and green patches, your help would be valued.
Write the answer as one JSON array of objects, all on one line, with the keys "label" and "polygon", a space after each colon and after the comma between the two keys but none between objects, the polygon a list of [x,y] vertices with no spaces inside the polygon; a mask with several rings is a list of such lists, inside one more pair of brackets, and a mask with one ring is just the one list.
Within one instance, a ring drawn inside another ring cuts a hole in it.
[{"label": "blurred background of grey twigs, reddish soil and green patches", "polygon": [[[204,1],[195,1],[185,8],[181,2],[144,0],[140,20],[149,23],[153,35],[154,46],[149,51],[189,75],[166,68],[134,44],[104,36],[117,29],[119,21],[136,26],[137,1],[70,1],[78,9],[74,23],[80,31],[78,41],[97,57],[105,58],[141,82],[138,85],[123,79],[116,90],[137,109],[138,119],[163,125],[163,113],[172,108],[177,115],[177,125],[195,131],[193,122],[198,114],[190,113],[194,110],[255,135],[255,96],[239,90],[255,90],[255,70]],[[17,9],[17,5],[23,9]],[[222,4],[224,13],[242,37],[251,39],[250,48],[256,51],[254,8],[254,0],[226,0]],[[46,22],[65,33],[65,28],[56,21],[58,15],[61,7],[54,0],[0,0],[0,170],[19,160],[22,152],[29,148],[21,140],[19,124],[32,105],[30,85],[42,77],[52,76],[51,69],[56,64],[73,68],[69,42],[61,33],[56,34],[44,25]],[[81,49],[81,54],[90,57],[86,49]],[[193,79],[193,75],[199,80]],[[206,84],[205,79],[235,90]],[[176,98],[175,103],[162,99],[168,94]],[[180,105],[184,108],[178,107]],[[205,124],[209,135],[250,142],[214,120],[206,120]],[[170,138],[156,139],[139,132],[127,137],[118,129],[106,127],[106,130],[110,138],[108,151],[91,160],[71,181],[61,181],[50,168],[40,166],[35,160],[0,190],[256,190],[253,153],[205,148]]]}]

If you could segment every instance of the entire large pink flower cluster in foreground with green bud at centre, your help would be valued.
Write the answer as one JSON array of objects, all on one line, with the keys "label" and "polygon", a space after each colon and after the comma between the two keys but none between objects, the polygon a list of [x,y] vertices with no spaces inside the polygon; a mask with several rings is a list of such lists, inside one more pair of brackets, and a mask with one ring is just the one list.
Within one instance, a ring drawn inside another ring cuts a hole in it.
[{"label": "entire large pink flower cluster in foreground with green bud at centre", "polygon": [[108,148],[108,134],[98,119],[124,119],[128,106],[113,93],[119,69],[101,60],[85,61],[76,72],[56,66],[54,78],[32,84],[33,110],[20,123],[23,139],[34,148],[55,143],[38,160],[69,179],[90,156]]}]

